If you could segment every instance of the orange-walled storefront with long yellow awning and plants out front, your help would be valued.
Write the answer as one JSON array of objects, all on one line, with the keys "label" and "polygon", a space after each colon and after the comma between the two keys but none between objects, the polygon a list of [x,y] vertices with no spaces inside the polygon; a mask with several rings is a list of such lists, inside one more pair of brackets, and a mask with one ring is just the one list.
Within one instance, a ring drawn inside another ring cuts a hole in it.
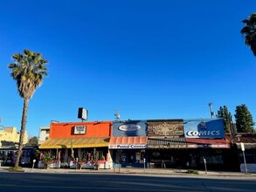
[{"label": "orange-walled storefront with long yellow awning and plants out front", "polygon": [[44,167],[44,156],[51,156],[50,168],[111,168],[108,143],[112,121],[54,123],[49,139],[39,146],[42,151],[38,167]]}]

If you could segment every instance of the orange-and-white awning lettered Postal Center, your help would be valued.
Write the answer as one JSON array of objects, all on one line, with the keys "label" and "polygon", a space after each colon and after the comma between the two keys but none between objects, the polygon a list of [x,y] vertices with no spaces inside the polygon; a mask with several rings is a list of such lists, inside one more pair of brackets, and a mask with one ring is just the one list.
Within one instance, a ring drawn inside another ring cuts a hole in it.
[{"label": "orange-and-white awning lettered Postal Center", "polygon": [[108,147],[110,149],[146,148],[147,141],[147,136],[111,137]]}]

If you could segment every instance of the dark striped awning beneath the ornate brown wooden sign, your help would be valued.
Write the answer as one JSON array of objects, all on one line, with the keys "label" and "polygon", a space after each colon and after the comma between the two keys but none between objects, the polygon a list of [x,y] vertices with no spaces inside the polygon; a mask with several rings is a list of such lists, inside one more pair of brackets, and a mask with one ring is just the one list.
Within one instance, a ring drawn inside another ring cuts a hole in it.
[{"label": "dark striped awning beneath the ornate brown wooden sign", "polygon": [[149,138],[148,148],[186,148],[185,138]]}]

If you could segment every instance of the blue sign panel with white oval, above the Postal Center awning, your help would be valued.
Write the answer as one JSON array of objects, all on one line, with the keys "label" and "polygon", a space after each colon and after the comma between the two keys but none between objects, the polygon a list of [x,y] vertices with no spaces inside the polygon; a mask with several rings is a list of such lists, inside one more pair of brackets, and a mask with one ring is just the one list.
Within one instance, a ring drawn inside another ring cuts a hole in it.
[{"label": "blue sign panel with white oval, above the Postal Center awning", "polygon": [[113,122],[113,136],[146,136],[146,120]]}]

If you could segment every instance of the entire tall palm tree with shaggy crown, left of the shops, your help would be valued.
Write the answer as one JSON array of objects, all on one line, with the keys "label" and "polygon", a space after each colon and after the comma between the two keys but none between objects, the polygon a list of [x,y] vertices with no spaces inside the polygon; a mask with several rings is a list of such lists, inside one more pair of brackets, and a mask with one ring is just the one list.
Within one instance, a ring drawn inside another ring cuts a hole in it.
[{"label": "entire tall palm tree with shaggy crown, left of the shops", "polygon": [[24,50],[23,54],[15,53],[12,55],[14,63],[9,65],[11,69],[10,76],[17,82],[17,92],[24,99],[23,113],[21,120],[19,144],[17,151],[17,160],[15,167],[18,167],[20,155],[22,153],[25,126],[27,121],[27,112],[29,100],[35,93],[38,86],[43,83],[43,79],[47,76],[47,60],[42,58],[38,52]]}]

